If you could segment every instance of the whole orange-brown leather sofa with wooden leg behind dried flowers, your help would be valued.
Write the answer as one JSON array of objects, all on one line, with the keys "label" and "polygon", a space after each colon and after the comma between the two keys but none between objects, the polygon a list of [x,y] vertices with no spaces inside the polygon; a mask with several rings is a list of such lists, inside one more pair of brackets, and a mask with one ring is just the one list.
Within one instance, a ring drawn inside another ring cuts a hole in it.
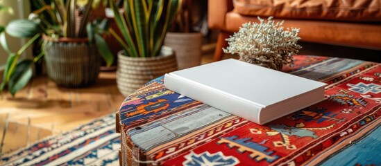
[{"label": "whole orange-brown leather sofa with wooden leg behind dried flowers", "polygon": [[381,50],[381,0],[208,0],[208,26],[220,30],[215,61],[225,39],[258,16],[300,28],[304,42]]}]

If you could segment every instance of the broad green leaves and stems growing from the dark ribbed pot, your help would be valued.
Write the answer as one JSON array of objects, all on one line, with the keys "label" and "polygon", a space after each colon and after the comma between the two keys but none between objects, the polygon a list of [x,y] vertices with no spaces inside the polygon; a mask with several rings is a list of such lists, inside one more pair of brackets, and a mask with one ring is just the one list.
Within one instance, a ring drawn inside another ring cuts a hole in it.
[{"label": "broad green leaves and stems growing from the dark ribbed pot", "polygon": [[[29,19],[17,19],[2,27],[0,26],[0,44],[8,53],[3,82],[0,84],[0,92],[8,86],[8,91],[15,95],[31,79],[32,64],[44,55],[40,53],[33,60],[19,60],[20,55],[37,41],[43,34],[58,39],[59,37],[88,37],[90,44],[96,44],[99,53],[108,65],[111,65],[114,57],[108,49],[101,35],[108,30],[108,21],[88,22],[93,2],[99,0],[44,0],[32,1],[37,10],[29,15]],[[4,8],[4,7],[2,7]],[[76,19],[76,12],[80,12],[81,21]],[[17,52],[12,52],[6,42],[6,35],[18,38],[29,38],[28,42]],[[44,44],[42,44],[44,46]],[[43,50],[43,49],[41,49]]]}]

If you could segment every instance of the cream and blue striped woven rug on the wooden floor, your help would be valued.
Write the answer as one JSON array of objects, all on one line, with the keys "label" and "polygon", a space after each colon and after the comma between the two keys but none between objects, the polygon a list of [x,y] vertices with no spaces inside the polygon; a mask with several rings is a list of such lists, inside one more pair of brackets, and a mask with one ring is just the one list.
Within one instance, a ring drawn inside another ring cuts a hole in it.
[{"label": "cream and blue striped woven rug on the wooden floor", "polygon": [[115,115],[1,156],[0,165],[119,165]]}]

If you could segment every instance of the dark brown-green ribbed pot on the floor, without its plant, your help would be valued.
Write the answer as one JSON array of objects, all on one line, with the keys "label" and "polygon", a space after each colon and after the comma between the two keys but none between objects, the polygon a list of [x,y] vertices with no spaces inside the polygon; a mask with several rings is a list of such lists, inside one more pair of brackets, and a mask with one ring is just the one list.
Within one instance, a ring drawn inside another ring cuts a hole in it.
[{"label": "dark brown-green ribbed pot on the floor, without its plant", "polygon": [[46,71],[58,86],[67,88],[94,84],[99,74],[101,57],[87,38],[48,40],[44,46]]}]

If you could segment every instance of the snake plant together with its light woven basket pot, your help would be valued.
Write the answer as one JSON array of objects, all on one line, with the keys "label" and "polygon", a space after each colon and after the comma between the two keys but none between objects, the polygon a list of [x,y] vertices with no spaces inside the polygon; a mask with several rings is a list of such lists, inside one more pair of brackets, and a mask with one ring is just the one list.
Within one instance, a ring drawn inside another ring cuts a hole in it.
[{"label": "snake plant together with its light woven basket pot", "polygon": [[162,45],[180,2],[124,1],[124,12],[119,12],[116,4],[109,1],[121,32],[119,37],[110,30],[123,47],[117,63],[117,86],[123,95],[133,93],[155,77],[177,70],[173,50]]}]

